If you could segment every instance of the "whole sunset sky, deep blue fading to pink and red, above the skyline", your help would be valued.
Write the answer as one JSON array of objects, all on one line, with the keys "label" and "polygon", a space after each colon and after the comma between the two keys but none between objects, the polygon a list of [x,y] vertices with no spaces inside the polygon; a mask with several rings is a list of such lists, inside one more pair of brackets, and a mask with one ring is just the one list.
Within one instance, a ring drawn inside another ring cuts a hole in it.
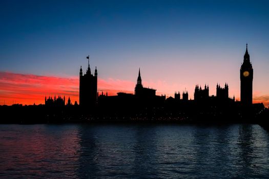
[{"label": "whole sunset sky, deep blue fading to pink and red, above the skyline", "polygon": [[98,91],[142,83],[174,96],[196,84],[229,84],[240,100],[248,43],[253,100],[269,104],[269,1],[0,1],[0,105],[78,101],[90,55]]}]

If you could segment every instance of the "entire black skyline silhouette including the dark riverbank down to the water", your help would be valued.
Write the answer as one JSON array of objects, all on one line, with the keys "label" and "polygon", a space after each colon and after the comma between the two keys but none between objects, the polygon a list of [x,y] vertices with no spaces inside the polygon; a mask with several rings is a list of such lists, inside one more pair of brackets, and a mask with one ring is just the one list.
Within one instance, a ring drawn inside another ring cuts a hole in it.
[{"label": "entire black skyline silhouette including the dark riverbank down to the water", "polygon": [[[247,49],[240,68],[240,97],[229,98],[229,84],[217,83],[216,95],[209,95],[209,85],[195,85],[194,99],[189,92],[175,92],[174,97],[156,95],[156,89],[144,87],[138,69],[134,93],[108,93],[97,91],[97,68],[79,70],[79,103],[61,96],[45,97],[45,105],[0,106],[6,116],[3,123],[55,123],[55,122],[186,122],[186,123],[264,123],[269,129],[269,110],[262,103],[252,104],[253,68]],[[38,119],[38,121],[36,121]]]}]

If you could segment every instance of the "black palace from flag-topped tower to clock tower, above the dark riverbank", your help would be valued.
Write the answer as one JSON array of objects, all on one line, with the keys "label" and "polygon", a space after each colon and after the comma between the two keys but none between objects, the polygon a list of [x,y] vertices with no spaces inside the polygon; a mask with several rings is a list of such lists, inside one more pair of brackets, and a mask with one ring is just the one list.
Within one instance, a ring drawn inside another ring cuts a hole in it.
[{"label": "black palace from flag-topped tower to clock tower, above the dark riverbank", "polygon": [[[121,103],[128,105],[148,105],[148,106],[160,106],[165,102],[165,95],[157,96],[156,89],[143,87],[142,78],[140,74],[140,68],[138,71],[137,83],[133,94],[127,93],[117,93],[117,96],[108,96],[102,92],[99,94],[97,92],[97,69],[95,67],[94,75],[91,74],[89,56],[88,59],[88,69],[86,74],[82,74],[82,68],[80,66],[79,71],[79,105],[82,107],[94,107],[94,106],[107,106],[107,105],[120,105]],[[253,92],[253,68],[250,61],[250,55],[247,51],[244,54],[243,63],[240,68],[240,98],[242,105],[252,104],[252,92]],[[170,97],[167,99],[170,102],[182,101],[188,102],[189,94],[188,91],[182,93],[182,99],[180,98],[180,92],[176,92],[174,98]],[[193,100],[191,100],[193,101]],[[216,85],[216,96],[209,95],[209,85],[204,85],[204,88],[196,84],[194,90],[194,102],[235,102],[235,97],[233,99],[229,98],[229,85],[224,84],[221,87],[220,84]]]}]

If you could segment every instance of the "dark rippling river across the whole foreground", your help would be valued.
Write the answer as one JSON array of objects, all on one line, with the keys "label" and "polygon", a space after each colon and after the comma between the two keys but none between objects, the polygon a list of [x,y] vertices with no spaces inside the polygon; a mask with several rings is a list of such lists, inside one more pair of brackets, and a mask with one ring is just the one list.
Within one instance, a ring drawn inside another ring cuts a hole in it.
[{"label": "dark rippling river across the whole foreground", "polygon": [[1,178],[268,178],[259,125],[0,125]]}]

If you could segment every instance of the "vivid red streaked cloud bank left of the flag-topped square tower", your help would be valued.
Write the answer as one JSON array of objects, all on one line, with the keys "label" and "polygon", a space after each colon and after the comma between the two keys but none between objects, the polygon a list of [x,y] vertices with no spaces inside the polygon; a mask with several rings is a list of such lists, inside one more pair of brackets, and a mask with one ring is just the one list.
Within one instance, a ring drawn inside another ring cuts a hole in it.
[{"label": "vivid red streaked cloud bank left of the flag-topped square tower", "polygon": [[0,104],[39,104],[45,96],[61,95],[78,100],[78,78],[0,72]]}]

